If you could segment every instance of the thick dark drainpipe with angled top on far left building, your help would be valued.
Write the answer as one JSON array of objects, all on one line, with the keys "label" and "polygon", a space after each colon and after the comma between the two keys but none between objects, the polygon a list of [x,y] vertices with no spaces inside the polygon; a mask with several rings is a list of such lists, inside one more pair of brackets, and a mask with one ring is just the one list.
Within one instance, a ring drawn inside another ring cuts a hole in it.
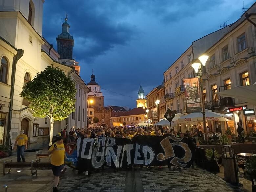
[{"label": "thick dark drainpipe with angled top on far left building", "polygon": [[12,72],[11,72],[11,90],[10,90],[10,106],[8,111],[8,124],[6,131],[6,141],[5,144],[9,146],[10,141],[10,131],[11,131],[11,120],[12,120],[12,106],[13,106],[13,95],[14,95],[14,85],[15,85],[15,75],[16,75],[16,66],[18,60],[23,56],[24,51],[22,49],[18,50],[18,53],[13,57],[12,61]]}]

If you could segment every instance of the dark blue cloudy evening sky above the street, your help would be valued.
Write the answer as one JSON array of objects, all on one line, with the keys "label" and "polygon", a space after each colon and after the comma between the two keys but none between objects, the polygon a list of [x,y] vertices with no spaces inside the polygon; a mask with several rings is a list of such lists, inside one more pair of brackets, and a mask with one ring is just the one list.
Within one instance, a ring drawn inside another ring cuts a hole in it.
[{"label": "dark blue cloudy evening sky above the street", "polygon": [[[68,14],[73,56],[81,77],[95,80],[104,104],[136,107],[192,41],[231,24],[254,0],[47,0],[43,36],[56,49],[61,19]],[[119,95],[121,94],[121,95]]]}]

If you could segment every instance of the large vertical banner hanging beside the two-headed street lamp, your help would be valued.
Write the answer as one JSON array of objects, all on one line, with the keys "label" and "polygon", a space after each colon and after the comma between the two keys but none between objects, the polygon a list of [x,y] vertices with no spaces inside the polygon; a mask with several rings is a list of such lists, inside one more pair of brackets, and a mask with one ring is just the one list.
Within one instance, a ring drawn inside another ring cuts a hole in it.
[{"label": "large vertical banner hanging beside the two-headed street lamp", "polygon": [[201,112],[201,97],[198,78],[183,79],[187,113]]}]

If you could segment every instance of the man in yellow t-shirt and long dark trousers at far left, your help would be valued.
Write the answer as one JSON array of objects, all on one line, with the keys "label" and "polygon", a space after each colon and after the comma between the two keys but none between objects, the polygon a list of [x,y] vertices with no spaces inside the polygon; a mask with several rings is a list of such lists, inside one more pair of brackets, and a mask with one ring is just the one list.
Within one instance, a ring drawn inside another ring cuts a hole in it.
[{"label": "man in yellow t-shirt and long dark trousers at far left", "polygon": [[28,148],[28,136],[24,134],[24,130],[20,130],[20,135],[16,137],[14,143],[14,149],[17,148],[17,161],[20,162],[20,156],[22,162],[25,162],[24,151]]}]

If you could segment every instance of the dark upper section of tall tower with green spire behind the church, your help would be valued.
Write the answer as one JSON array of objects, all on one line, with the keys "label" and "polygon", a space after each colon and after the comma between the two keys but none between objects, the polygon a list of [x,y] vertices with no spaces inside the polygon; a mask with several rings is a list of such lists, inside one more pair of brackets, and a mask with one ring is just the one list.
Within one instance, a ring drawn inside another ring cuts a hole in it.
[{"label": "dark upper section of tall tower with green spire behind the church", "polygon": [[73,59],[74,39],[69,34],[70,25],[67,22],[68,16],[66,14],[65,22],[62,23],[62,33],[58,35],[57,51],[60,54],[60,59]]}]

